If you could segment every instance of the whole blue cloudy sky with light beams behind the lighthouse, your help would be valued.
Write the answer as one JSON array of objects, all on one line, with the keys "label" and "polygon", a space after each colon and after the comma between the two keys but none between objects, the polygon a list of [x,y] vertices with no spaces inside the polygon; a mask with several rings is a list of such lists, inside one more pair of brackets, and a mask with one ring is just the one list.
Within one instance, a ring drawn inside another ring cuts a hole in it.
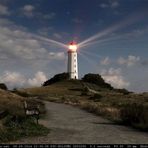
[{"label": "whole blue cloudy sky with light beams behind the lighthouse", "polygon": [[66,72],[73,40],[79,78],[148,91],[148,0],[0,0],[0,82],[40,86]]}]

